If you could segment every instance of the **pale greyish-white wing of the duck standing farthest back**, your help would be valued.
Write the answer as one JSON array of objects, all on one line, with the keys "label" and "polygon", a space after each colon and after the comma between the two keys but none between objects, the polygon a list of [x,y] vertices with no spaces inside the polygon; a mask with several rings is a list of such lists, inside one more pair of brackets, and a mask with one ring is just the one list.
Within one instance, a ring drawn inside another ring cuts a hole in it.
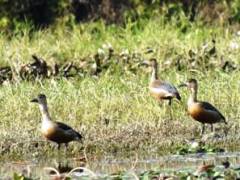
[{"label": "pale greyish-white wing of the duck standing farthest back", "polygon": [[151,84],[151,88],[153,89],[153,91],[156,91],[156,92],[165,92],[168,94],[175,95],[177,99],[181,100],[181,97],[177,88],[168,82],[162,82],[162,81],[156,80]]}]

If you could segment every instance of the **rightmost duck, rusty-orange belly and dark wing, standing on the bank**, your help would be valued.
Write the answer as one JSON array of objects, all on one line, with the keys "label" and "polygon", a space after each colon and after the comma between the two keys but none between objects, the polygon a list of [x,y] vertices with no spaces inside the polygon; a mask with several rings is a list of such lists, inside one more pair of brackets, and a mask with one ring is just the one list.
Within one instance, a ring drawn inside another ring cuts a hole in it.
[{"label": "rightmost duck, rusty-orange belly and dark wing, standing on the bank", "polygon": [[191,91],[187,102],[187,111],[193,119],[202,123],[201,134],[204,133],[206,123],[211,125],[212,131],[214,123],[223,122],[227,124],[225,117],[212,104],[198,101],[198,83],[196,79],[189,79],[186,83],[181,84],[181,86],[186,86]]}]

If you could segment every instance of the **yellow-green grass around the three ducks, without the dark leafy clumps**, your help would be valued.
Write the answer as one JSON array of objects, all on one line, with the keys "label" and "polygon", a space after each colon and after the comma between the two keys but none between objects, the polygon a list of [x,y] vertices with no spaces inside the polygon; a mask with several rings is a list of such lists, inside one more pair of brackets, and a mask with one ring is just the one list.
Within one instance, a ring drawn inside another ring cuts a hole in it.
[{"label": "yellow-green grass around the three ducks, without the dark leafy clumps", "polygon": [[[18,70],[20,65],[30,62],[32,54],[43,57],[49,64],[79,63],[93,56],[106,43],[112,45],[115,53],[124,49],[130,54],[140,53],[139,61],[155,57],[160,63],[162,79],[175,85],[190,77],[199,80],[199,99],[213,103],[229,122],[228,139],[214,144],[239,150],[240,72],[226,73],[220,68],[221,57],[239,64],[239,49],[228,46],[232,40],[239,41],[233,29],[202,27],[196,23],[189,24],[187,32],[182,33],[174,23],[165,24],[157,18],[139,24],[129,23],[123,28],[92,22],[72,29],[57,27],[37,32],[26,29],[14,37],[0,34],[0,64]],[[190,69],[189,50],[203,56],[202,46],[205,43],[211,46],[212,38],[216,39],[217,56],[210,57],[209,61],[214,68],[206,70],[200,62],[199,66]],[[153,48],[154,53],[144,54],[146,47]],[[181,71],[174,65],[179,58],[184,67]],[[41,157],[46,152],[50,155],[55,152],[43,141],[39,109],[30,103],[38,93],[47,95],[53,120],[65,122],[83,134],[83,145],[70,145],[71,156],[82,154],[84,148],[90,155],[99,156],[107,153],[128,156],[135,150],[174,153],[175,147],[185,139],[199,137],[200,124],[185,112],[189,92],[180,89],[183,104],[174,101],[171,109],[174,119],[169,120],[169,107],[160,107],[150,97],[148,79],[147,68],[141,67],[132,73],[124,65],[113,64],[99,78],[86,75],[68,80],[52,78],[5,83],[0,87],[2,159]],[[105,119],[109,120],[108,126]]]}]

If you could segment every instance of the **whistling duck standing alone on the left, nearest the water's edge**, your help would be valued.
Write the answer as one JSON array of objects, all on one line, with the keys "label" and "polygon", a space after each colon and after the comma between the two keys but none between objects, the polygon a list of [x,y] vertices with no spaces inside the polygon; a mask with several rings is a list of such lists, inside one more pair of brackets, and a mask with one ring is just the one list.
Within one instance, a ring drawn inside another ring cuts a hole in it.
[{"label": "whistling duck standing alone on the left, nearest the water's edge", "polygon": [[70,141],[81,141],[82,136],[70,126],[51,120],[48,112],[47,98],[44,94],[39,94],[37,98],[32,99],[31,102],[38,103],[42,114],[41,132],[43,136],[60,145],[64,143],[66,146]]}]

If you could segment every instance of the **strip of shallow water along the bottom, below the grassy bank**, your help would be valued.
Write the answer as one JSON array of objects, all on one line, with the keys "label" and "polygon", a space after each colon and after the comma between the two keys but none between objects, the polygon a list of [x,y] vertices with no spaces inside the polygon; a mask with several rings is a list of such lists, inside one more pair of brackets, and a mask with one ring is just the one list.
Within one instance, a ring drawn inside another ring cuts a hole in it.
[{"label": "strip of shallow water along the bottom, below the grassy bank", "polygon": [[[53,167],[60,171],[68,168],[68,172],[75,167],[86,167],[98,177],[107,174],[128,171],[140,173],[149,170],[173,171],[173,170],[193,170],[203,163],[221,165],[228,160],[233,167],[240,167],[240,152],[225,152],[216,154],[190,154],[190,155],[170,155],[170,156],[134,156],[130,158],[107,156],[99,159],[88,159],[83,162],[77,158],[54,158],[35,159],[31,161],[1,162],[1,179],[11,179],[14,172],[23,173],[31,177],[48,179],[49,170],[44,168]],[[80,175],[80,173],[79,173]]]}]

